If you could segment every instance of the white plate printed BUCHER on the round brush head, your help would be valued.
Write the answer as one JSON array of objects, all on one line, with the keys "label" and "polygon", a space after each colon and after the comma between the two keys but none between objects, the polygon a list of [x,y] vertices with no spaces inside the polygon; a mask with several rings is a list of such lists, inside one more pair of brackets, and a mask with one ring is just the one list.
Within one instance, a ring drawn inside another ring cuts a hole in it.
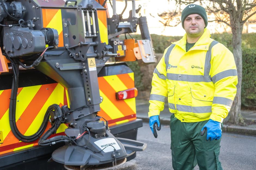
[{"label": "white plate printed BUCHER on the round brush head", "polygon": [[[116,150],[121,149],[118,145],[117,141],[114,138],[105,138],[100,139],[94,142],[100,149],[103,149],[103,152],[111,152],[114,151],[114,148]],[[111,146],[110,146],[111,145]],[[105,148],[106,147],[106,148]],[[104,149],[105,148],[105,149]]]}]

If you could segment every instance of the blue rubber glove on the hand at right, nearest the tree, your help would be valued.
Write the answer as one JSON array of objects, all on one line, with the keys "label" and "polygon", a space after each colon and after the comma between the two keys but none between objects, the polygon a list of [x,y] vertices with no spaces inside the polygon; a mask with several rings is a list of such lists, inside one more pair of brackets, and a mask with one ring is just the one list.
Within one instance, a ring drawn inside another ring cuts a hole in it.
[{"label": "blue rubber glove on the hand at right, nearest the tree", "polygon": [[201,136],[206,131],[206,140],[218,140],[221,137],[221,123],[214,120],[209,120],[201,130]]}]

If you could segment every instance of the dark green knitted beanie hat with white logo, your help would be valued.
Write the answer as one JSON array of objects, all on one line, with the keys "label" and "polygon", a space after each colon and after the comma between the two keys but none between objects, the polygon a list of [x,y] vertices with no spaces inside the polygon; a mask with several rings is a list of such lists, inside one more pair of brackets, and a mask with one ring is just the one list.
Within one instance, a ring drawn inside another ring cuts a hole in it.
[{"label": "dark green knitted beanie hat with white logo", "polygon": [[207,27],[208,19],[207,19],[205,8],[201,7],[200,5],[190,4],[181,12],[182,28],[184,28],[185,19],[187,18],[188,15],[191,15],[191,14],[199,14],[205,21],[205,27]]}]

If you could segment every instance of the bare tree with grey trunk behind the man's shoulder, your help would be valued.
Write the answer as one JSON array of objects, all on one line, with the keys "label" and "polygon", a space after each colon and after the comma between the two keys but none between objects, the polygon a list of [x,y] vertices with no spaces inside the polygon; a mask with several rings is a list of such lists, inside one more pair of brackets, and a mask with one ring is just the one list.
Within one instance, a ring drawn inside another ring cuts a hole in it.
[{"label": "bare tree with grey trunk behind the man's shoulder", "polygon": [[[176,5],[188,5],[196,2],[196,0],[175,0]],[[200,0],[200,5],[205,7],[206,12],[214,13],[215,20],[222,22],[231,27],[233,39],[233,54],[237,67],[238,84],[237,94],[229,113],[228,121],[238,124],[241,120],[241,84],[242,84],[242,46],[241,37],[243,24],[256,13],[256,0]],[[254,8],[255,7],[255,8]],[[178,13],[177,11],[175,11]],[[173,16],[173,12],[163,13],[159,16],[164,20],[167,15]],[[168,25],[168,23],[165,23]]]}]

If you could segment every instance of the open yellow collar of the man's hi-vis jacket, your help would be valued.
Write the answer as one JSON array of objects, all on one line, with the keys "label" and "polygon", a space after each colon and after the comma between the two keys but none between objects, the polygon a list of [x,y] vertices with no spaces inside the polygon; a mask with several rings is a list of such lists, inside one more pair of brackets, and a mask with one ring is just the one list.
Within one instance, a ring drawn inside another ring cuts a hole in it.
[{"label": "open yellow collar of the man's hi-vis jacket", "polygon": [[[209,44],[211,42],[210,37],[211,37],[210,31],[207,28],[205,28],[204,32],[203,32],[203,35],[196,42],[194,47],[192,47],[190,50],[208,50]],[[179,41],[173,42],[173,44],[178,45],[183,50],[186,49],[186,43],[187,43],[187,33],[185,33],[185,35]]]}]

